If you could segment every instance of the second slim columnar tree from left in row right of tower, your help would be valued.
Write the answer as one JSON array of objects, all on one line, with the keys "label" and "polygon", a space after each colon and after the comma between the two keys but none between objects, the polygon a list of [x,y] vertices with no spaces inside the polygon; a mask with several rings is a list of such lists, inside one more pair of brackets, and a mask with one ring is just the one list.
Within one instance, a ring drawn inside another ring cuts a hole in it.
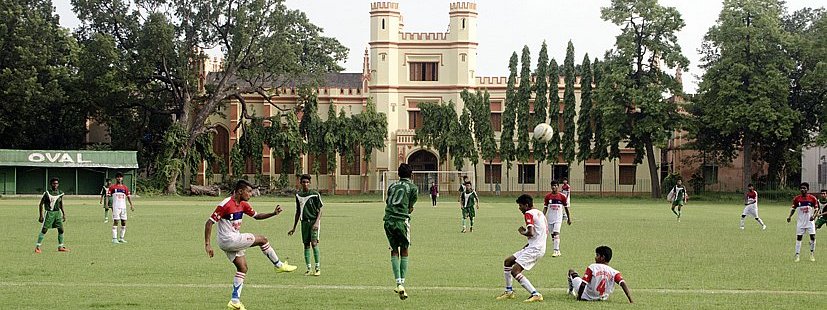
[{"label": "second slim columnar tree from left in row right of tower", "polygon": [[[521,57],[522,66],[520,69],[520,86],[517,90],[517,160],[525,165],[531,157],[531,146],[529,145],[528,132],[531,130],[531,114],[529,112],[529,101],[531,100],[531,53],[528,46],[523,46]],[[519,175],[521,189],[525,190],[525,172],[520,168]]]}]

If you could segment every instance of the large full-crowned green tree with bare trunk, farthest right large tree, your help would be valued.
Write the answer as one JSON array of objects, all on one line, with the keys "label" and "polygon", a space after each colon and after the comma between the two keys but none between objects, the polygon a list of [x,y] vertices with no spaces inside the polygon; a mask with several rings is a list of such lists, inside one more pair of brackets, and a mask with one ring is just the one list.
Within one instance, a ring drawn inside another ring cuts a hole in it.
[{"label": "large full-crowned green tree with bare trunk, farthest right large tree", "polygon": [[729,138],[718,143],[743,148],[745,188],[754,146],[786,140],[799,118],[787,102],[792,62],[784,53],[781,12],[775,0],[726,0],[704,38],[699,122],[719,133],[715,138]]}]

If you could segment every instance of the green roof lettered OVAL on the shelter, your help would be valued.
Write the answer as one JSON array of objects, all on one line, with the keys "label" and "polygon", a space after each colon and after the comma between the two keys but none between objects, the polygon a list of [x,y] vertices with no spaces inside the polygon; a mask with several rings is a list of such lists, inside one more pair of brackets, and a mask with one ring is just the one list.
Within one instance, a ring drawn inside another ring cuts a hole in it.
[{"label": "green roof lettered OVAL on the shelter", "polygon": [[138,168],[135,151],[3,150],[0,166],[61,168]]}]

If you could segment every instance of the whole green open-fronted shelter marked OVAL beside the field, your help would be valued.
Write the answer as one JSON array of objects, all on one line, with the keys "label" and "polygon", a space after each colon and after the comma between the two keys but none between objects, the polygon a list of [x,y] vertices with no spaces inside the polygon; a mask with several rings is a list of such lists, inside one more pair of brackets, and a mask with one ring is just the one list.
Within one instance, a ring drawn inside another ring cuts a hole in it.
[{"label": "whole green open-fronted shelter marked OVAL beside the field", "polygon": [[0,149],[0,195],[42,194],[53,177],[67,195],[97,195],[118,172],[134,190],[137,156],[135,151]]}]

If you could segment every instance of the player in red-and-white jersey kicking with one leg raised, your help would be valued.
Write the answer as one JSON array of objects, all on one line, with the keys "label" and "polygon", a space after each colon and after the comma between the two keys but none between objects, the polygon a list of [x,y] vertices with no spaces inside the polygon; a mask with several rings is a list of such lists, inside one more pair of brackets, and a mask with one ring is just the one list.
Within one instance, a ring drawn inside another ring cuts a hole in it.
[{"label": "player in red-and-white jersey kicking with one leg raised", "polygon": [[235,183],[233,195],[221,201],[204,224],[204,250],[207,251],[207,255],[213,257],[210,237],[212,236],[213,224],[218,223],[218,233],[216,233],[215,236],[218,242],[218,248],[227,254],[227,258],[236,268],[236,273],[233,277],[233,292],[232,295],[230,295],[230,302],[227,303],[227,309],[229,310],[246,309],[244,304],[241,303],[241,289],[244,286],[244,277],[247,275],[247,258],[244,256],[245,249],[254,246],[261,247],[261,252],[273,263],[277,272],[292,272],[296,270],[296,266],[279,260],[276,251],[270,246],[267,237],[239,232],[242,217],[245,214],[256,220],[264,220],[281,213],[281,206],[279,205],[276,205],[276,209],[271,213],[257,213],[247,202],[252,195],[253,186],[247,183],[247,181],[238,180],[238,182]]}]

